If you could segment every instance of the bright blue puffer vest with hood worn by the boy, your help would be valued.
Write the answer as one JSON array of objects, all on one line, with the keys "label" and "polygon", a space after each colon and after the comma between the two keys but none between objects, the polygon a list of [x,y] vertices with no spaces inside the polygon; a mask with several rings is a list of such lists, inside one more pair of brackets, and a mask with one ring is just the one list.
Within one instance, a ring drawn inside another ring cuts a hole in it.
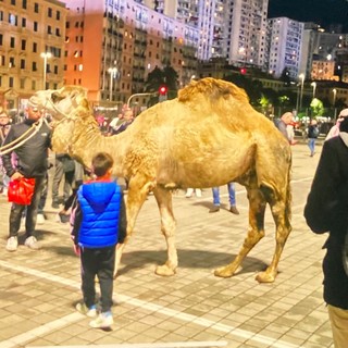
[{"label": "bright blue puffer vest with hood worn by the boy", "polygon": [[119,239],[121,187],[114,182],[91,182],[78,189],[83,221],[78,245],[86,248],[113,246]]}]

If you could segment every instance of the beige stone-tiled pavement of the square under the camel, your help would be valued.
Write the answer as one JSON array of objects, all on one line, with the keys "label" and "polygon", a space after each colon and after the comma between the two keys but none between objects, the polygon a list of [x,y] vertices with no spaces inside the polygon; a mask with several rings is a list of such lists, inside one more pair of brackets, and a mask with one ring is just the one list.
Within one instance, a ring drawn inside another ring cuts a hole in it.
[{"label": "beige stone-tiled pavement of the square under the camel", "polygon": [[[140,211],[125,248],[114,286],[114,325],[94,330],[74,306],[80,300],[79,260],[69,226],[49,220],[37,226],[42,249],[21,245],[4,249],[10,204],[0,198],[0,347],[333,347],[322,299],[321,249],[325,236],[310,233],[302,216],[318,154],[303,144],[293,147],[293,227],[273,284],[258,284],[256,274],[271,261],[274,224],[268,210],[266,236],[241,270],[219,278],[213,270],[238,252],[248,226],[244,187],[237,185],[240,215],[226,210],[209,214],[211,190],[202,198],[175,195],[179,268],[172,277],[157,276],[165,260],[165,241],[153,196]],[[23,229],[22,229],[23,232]],[[23,243],[23,239],[21,240]]]}]

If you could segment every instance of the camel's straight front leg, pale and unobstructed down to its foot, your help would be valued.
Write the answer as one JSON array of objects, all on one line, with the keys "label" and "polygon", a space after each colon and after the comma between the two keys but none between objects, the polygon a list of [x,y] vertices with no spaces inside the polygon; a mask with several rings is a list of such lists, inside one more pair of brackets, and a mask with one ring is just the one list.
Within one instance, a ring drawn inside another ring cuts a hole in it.
[{"label": "camel's straight front leg, pale and unobstructed down to its foot", "polygon": [[172,192],[158,186],[153,189],[153,195],[160,209],[161,232],[165,237],[167,248],[167,260],[164,264],[157,268],[156,274],[169,276],[175,274],[177,268],[175,247],[176,222],[173,214]]}]

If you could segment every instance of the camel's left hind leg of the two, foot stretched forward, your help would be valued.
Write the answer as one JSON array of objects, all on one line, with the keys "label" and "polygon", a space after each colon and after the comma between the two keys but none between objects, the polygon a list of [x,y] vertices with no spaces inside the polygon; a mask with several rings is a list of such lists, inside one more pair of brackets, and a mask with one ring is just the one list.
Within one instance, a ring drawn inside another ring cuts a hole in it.
[{"label": "camel's left hind leg of the two, foot stretched forward", "polygon": [[239,253],[229,264],[219,268],[214,274],[221,277],[229,277],[235,274],[249,251],[264,236],[264,211],[266,201],[260,189],[247,188],[249,199],[249,229]]}]

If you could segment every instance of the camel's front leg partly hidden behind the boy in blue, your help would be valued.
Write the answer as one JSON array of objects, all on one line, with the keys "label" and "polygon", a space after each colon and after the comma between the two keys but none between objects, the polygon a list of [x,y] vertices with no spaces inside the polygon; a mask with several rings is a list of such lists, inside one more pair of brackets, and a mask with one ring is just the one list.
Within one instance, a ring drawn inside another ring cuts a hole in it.
[{"label": "camel's front leg partly hidden behind the boy in blue", "polygon": [[149,190],[151,190],[154,185],[154,182],[146,182],[142,177],[140,178],[138,176],[132,177],[128,183],[128,194],[125,197],[127,233],[124,243],[119,243],[116,246],[114,277],[116,277],[124,247],[132,236],[140,208],[142,207]]}]

